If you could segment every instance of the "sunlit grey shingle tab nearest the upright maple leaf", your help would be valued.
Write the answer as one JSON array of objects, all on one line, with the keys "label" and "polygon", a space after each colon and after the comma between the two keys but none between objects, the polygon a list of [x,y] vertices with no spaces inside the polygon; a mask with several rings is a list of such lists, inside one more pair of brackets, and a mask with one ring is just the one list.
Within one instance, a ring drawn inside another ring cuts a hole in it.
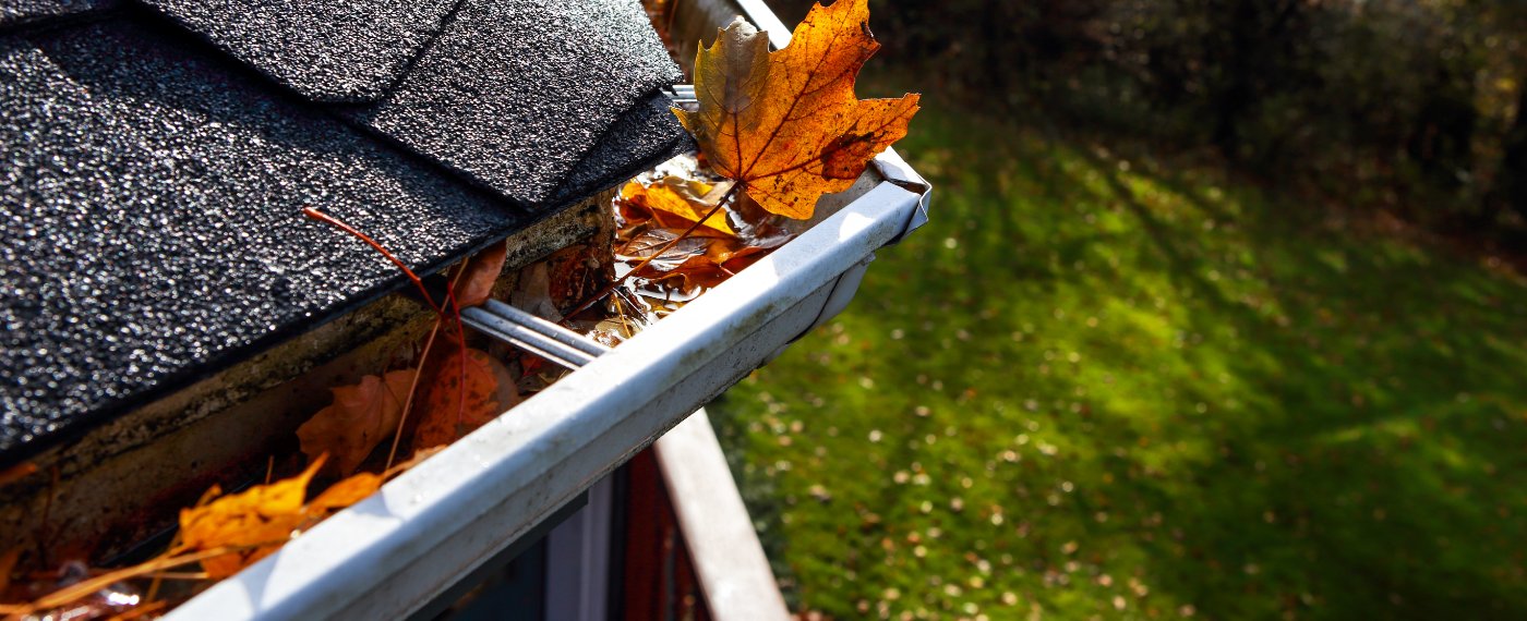
[{"label": "sunlit grey shingle tab nearest the upright maple leaf", "polygon": [[547,208],[611,124],[680,79],[637,0],[463,0],[397,88],[348,114]]}]

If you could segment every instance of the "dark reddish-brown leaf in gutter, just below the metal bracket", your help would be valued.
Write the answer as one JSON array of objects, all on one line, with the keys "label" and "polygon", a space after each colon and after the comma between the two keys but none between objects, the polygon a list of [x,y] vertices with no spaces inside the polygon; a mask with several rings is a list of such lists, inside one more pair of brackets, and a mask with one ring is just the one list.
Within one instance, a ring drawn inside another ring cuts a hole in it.
[{"label": "dark reddish-brown leaf in gutter, just below the metal bracket", "polygon": [[415,447],[450,444],[519,401],[502,363],[481,349],[441,356],[425,394]]}]

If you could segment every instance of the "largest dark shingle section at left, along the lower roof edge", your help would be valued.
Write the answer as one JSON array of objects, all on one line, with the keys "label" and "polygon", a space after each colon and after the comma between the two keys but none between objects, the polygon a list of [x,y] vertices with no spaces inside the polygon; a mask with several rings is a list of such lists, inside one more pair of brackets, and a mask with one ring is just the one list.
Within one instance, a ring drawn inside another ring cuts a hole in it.
[{"label": "largest dark shingle section at left, along the lower roof edge", "polygon": [[403,284],[302,206],[426,269],[528,223],[169,41],[0,37],[0,462]]}]

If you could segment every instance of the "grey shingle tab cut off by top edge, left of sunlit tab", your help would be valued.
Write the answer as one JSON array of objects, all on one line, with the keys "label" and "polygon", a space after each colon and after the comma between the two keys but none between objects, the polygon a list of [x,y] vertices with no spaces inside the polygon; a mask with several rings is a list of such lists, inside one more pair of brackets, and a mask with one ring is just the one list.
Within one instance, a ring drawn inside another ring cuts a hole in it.
[{"label": "grey shingle tab cut off by top edge, left of sunlit tab", "polygon": [[145,0],[313,101],[380,98],[457,0]]}]

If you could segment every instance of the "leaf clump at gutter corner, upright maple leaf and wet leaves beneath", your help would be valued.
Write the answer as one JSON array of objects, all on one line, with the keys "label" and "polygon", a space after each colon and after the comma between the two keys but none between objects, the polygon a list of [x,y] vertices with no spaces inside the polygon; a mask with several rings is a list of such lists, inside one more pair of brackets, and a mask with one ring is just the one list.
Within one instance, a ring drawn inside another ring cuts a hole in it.
[{"label": "leaf clump at gutter corner, upright maple leaf and wet leaves beneath", "polygon": [[[661,8],[655,14],[661,14]],[[675,108],[699,154],[628,183],[615,201],[620,259],[660,314],[789,240],[823,194],[849,189],[907,134],[918,95],[858,99],[880,49],[866,0],[817,5],[791,44],[738,18],[695,58],[696,108]]]}]

